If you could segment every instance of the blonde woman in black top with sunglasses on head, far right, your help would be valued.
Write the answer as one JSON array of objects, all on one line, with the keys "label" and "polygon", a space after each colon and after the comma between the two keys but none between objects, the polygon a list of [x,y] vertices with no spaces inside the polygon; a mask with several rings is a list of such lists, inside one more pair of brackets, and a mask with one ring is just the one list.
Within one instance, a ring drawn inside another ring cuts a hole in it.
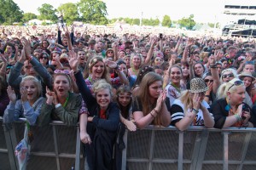
[{"label": "blonde woman in black top with sunglasses on head, far right", "polygon": [[234,78],[218,88],[218,95],[212,105],[215,120],[214,127],[255,127],[256,117],[250,106],[243,102],[246,87],[244,83]]}]

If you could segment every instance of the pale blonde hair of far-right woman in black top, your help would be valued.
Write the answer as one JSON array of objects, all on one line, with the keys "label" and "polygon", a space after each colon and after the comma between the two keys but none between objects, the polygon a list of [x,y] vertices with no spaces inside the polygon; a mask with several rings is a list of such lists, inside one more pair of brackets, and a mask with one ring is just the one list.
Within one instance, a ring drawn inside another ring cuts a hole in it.
[{"label": "pale blonde hair of far-right woman in black top", "polygon": [[[227,92],[230,92],[232,94],[236,92],[237,88],[244,86],[243,83],[238,86],[233,86],[236,81],[241,81],[241,80],[239,78],[233,78],[232,80],[230,80],[230,82],[224,82],[222,85],[220,85],[217,91],[217,99],[226,98]],[[233,87],[230,88],[231,86]]]}]

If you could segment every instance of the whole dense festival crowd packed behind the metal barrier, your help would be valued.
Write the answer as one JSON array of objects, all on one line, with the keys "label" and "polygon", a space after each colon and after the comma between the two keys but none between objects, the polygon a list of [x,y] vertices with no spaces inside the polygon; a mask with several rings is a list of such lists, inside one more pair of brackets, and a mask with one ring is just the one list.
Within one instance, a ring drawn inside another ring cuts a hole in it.
[{"label": "whole dense festival crowd packed behind the metal barrier", "polygon": [[125,128],[256,127],[255,39],[100,31],[2,27],[3,122],[79,122],[92,170],[120,169]]}]

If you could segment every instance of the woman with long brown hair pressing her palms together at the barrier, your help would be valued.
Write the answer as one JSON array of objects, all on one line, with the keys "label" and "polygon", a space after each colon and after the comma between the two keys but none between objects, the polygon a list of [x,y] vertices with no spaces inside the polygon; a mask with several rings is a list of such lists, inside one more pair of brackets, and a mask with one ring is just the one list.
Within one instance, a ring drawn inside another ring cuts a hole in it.
[{"label": "woman with long brown hair pressing her palms together at the barrier", "polygon": [[149,124],[168,127],[171,122],[170,101],[162,91],[163,79],[148,72],[140,83],[140,90],[132,102],[133,117],[138,128]]}]

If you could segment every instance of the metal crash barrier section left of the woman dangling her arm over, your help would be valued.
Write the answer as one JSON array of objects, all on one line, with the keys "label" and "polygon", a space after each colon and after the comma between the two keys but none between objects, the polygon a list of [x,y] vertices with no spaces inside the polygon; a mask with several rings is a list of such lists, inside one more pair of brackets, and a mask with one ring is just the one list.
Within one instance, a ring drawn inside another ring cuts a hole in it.
[{"label": "metal crash barrier section left of the woman dangling her arm over", "polygon": [[[23,139],[26,119],[12,123],[10,130],[0,117],[0,170],[19,169],[15,146]],[[63,122],[52,122],[47,127],[31,127],[34,140],[27,163],[28,170],[84,169],[80,152],[79,127],[67,127]]]}]

